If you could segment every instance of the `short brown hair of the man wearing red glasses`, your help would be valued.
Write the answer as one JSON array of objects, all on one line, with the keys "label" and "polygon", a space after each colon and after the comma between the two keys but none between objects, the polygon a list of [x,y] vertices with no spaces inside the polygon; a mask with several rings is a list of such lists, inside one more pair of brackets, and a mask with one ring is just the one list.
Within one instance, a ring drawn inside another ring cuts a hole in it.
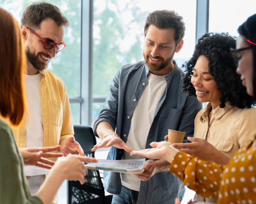
[{"label": "short brown hair of the man wearing red glasses", "polygon": [[68,26],[67,18],[60,12],[60,9],[48,2],[34,2],[26,7],[21,18],[21,27],[27,26],[33,29],[40,29],[41,22],[50,18],[58,26]]}]

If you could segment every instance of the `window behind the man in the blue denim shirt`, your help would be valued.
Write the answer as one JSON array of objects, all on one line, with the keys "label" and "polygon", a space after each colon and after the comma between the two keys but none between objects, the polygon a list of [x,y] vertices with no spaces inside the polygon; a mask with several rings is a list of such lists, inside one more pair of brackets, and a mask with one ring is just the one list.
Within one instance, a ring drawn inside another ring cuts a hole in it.
[{"label": "window behind the man in the blue denim shirt", "polygon": [[123,65],[144,60],[146,17],[162,9],[176,11],[186,24],[183,48],[174,55],[181,67],[192,56],[195,46],[196,0],[158,1],[157,4],[155,0],[94,0],[92,96],[98,100],[92,106],[92,124],[116,72]]}]

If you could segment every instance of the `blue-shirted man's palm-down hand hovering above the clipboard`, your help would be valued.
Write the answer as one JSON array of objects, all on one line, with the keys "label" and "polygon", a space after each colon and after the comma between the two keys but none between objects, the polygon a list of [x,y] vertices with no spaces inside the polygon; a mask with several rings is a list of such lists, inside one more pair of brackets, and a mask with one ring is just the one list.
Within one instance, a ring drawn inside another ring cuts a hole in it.
[{"label": "blue-shirted man's palm-down hand hovering above the clipboard", "polygon": [[92,148],[92,151],[94,152],[98,148],[106,148],[106,147],[112,147],[112,146],[119,149],[124,149],[126,152],[129,152],[129,153],[131,153],[132,151],[132,149],[129,148],[125,144],[125,142],[120,137],[118,137],[116,133],[107,135],[98,145],[94,145],[94,147]]}]

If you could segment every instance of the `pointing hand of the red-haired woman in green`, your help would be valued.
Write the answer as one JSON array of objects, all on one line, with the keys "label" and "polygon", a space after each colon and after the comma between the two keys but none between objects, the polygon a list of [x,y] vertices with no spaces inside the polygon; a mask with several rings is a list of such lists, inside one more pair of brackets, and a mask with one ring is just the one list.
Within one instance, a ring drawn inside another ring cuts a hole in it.
[{"label": "pointing hand of the red-haired woman in green", "polygon": [[98,162],[95,158],[78,156],[77,154],[68,154],[64,159],[58,160],[52,167],[51,172],[56,175],[63,176],[67,180],[78,180],[80,184],[84,184],[85,166],[84,163]]}]

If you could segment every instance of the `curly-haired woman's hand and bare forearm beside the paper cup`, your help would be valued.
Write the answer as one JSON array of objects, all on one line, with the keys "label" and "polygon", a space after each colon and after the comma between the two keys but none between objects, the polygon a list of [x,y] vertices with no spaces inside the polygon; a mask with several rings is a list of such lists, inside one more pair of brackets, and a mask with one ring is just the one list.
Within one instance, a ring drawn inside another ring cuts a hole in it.
[{"label": "curly-haired woman's hand and bare forearm beside the paper cup", "polygon": [[229,159],[206,140],[196,137],[187,137],[187,139],[192,143],[173,143],[172,146],[180,148],[180,151],[198,157],[198,159],[204,161],[218,164],[228,163]]}]

